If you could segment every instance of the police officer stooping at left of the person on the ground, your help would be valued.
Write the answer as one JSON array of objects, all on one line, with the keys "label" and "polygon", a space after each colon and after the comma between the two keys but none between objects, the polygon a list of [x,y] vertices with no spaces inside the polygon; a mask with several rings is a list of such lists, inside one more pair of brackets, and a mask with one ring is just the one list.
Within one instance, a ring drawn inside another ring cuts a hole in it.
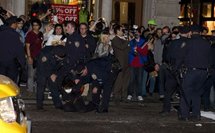
[{"label": "police officer stooping at left of the person on the ground", "polygon": [[51,91],[54,106],[62,108],[58,81],[60,81],[61,69],[64,65],[64,46],[47,46],[42,49],[37,62],[37,109],[43,109],[44,91],[47,86]]}]

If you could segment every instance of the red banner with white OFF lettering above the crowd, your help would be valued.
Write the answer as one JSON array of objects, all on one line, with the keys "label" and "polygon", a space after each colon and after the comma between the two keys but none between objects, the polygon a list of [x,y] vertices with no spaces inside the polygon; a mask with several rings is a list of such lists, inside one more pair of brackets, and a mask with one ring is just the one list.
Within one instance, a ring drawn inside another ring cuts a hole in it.
[{"label": "red banner with white OFF lettering above the crowd", "polygon": [[[52,10],[56,12],[58,22],[75,21],[78,22],[78,5],[59,5],[52,4]],[[53,16],[52,16],[53,21]]]}]

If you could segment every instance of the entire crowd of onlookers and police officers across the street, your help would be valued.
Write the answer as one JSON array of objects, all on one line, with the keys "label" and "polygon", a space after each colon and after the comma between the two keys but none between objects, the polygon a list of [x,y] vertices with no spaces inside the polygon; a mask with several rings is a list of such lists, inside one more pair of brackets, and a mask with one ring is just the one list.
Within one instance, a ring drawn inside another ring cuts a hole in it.
[{"label": "entire crowd of onlookers and police officers across the street", "polygon": [[19,84],[26,71],[27,91],[36,93],[38,110],[46,88],[57,109],[104,113],[111,96],[116,105],[143,102],[156,84],[162,116],[170,113],[174,93],[180,96],[180,120],[200,120],[201,98],[205,110],[214,106],[209,97],[215,37],[204,35],[200,26],[157,28],[151,19],[145,28],[104,18],[42,24],[49,10],[31,20],[0,11],[0,74]]}]

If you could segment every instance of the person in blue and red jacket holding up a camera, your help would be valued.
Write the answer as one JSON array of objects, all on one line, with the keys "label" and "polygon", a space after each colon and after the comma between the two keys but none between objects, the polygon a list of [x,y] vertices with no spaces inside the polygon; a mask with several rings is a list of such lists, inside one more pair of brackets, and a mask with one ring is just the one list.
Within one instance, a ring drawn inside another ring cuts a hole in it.
[{"label": "person in blue and red jacket holding up a camera", "polygon": [[129,43],[129,66],[131,71],[131,78],[128,88],[127,100],[132,100],[134,88],[136,87],[136,96],[138,101],[143,101],[142,97],[142,81],[143,81],[143,66],[147,62],[148,45],[146,40],[140,37],[140,30],[135,30],[134,39]]}]

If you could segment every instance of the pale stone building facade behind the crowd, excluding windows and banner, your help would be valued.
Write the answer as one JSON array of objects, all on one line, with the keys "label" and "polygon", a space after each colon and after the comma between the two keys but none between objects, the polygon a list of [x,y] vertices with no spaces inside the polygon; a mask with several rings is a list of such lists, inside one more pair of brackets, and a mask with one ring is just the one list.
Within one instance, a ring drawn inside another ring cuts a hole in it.
[{"label": "pale stone building facade behind the crowd, excluding windows and banner", "polygon": [[[0,5],[16,15],[27,14],[31,0],[0,0]],[[34,0],[35,1],[35,0]],[[108,22],[114,19],[115,2],[135,4],[135,20],[137,25],[147,26],[149,19],[156,19],[158,26],[174,26],[179,24],[180,0],[88,0],[95,1],[94,18],[104,17]]]}]

